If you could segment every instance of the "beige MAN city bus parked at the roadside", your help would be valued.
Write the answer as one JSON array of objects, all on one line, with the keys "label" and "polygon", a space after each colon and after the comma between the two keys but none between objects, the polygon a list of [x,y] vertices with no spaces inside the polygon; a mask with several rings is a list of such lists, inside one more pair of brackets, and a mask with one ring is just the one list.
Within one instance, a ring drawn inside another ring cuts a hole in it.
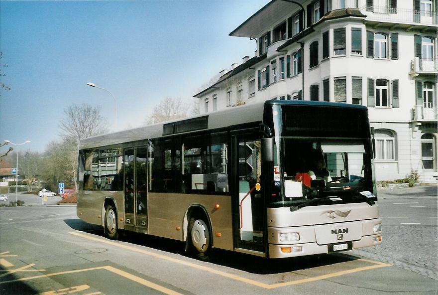
[{"label": "beige MAN city bus parked at the roadside", "polygon": [[368,110],[272,100],[84,139],[77,215],[275,259],[382,242]]}]

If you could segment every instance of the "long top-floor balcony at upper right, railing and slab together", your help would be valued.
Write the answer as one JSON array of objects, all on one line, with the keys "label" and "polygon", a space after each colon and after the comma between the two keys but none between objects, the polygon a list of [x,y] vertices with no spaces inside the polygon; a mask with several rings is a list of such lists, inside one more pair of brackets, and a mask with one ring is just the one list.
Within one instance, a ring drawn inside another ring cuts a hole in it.
[{"label": "long top-floor balcony at upper right, railing and slab together", "polygon": [[414,27],[437,30],[437,12],[414,10],[406,8],[391,8],[390,6],[362,6],[360,12],[367,15],[365,22],[371,22],[375,27],[386,26],[410,30]]}]

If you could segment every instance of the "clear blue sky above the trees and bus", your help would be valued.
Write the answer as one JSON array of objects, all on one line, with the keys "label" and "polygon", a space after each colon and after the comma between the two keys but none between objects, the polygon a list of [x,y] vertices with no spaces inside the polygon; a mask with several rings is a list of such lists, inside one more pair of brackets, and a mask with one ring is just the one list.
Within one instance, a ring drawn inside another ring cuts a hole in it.
[{"label": "clear blue sky above the trees and bus", "polygon": [[[3,1],[0,142],[44,151],[64,108],[97,106],[110,131],[193,95],[256,43],[228,34],[269,0]],[[107,89],[87,86],[88,82]]]}]

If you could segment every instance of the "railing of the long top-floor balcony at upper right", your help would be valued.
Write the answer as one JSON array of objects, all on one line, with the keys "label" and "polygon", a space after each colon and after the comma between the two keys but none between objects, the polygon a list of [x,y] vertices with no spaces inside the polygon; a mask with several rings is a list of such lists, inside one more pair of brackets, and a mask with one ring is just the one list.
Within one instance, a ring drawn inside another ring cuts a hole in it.
[{"label": "railing of the long top-floor balcony at upper right", "polygon": [[370,20],[420,24],[438,23],[437,12],[429,10],[391,8],[390,6],[362,6],[359,10]]}]

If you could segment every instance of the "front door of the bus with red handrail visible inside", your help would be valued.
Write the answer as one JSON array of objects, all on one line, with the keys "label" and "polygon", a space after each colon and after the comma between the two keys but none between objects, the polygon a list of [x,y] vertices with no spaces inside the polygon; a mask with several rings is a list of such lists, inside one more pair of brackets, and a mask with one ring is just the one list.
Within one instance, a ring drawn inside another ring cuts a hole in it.
[{"label": "front door of the bus with red handrail visible inside", "polygon": [[260,188],[261,142],[251,138],[233,138],[236,155],[234,163],[235,187],[234,204],[238,210],[235,223],[240,249],[265,252],[263,198]]}]

